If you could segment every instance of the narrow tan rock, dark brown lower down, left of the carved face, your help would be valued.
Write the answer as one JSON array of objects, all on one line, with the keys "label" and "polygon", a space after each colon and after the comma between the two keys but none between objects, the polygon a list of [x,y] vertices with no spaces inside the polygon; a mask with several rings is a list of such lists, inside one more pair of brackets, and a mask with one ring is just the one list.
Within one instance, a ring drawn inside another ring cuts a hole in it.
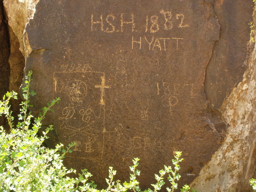
[{"label": "narrow tan rock, dark brown lower down, left of the carved face", "polygon": [[[33,18],[35,6],[39,0],[3,0],[4,9],[6,11],[6,20],[8,23],[8,44],[10,55],[7,57],[10,72],[8,80],[6,80],[9,90],[19,92],[20,85],[23,80],[23,70],[25,67],[25,58],[31,52],[27,43],[27,35],[25,27],[29,19]],[[2,74],[2,73],[1,73]],[[7,74],[7,73],[3,73]],[[14,114],[19,113],[18,100],[12,100],[12,111]]]}]

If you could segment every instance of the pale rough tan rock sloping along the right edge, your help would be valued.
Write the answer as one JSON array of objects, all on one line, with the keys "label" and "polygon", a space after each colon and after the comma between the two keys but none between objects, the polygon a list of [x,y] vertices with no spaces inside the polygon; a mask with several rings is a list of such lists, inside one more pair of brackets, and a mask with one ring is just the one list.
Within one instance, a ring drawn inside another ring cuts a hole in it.
[{"label": "pale rough tan rock sloping along the right edge", "polygon": [[[253,15],[255,18],[255,9]],[[256,152],[255,62],[254,46],[242,82],[223,104],[223,114],[228,124],[225,141],[191,184],[198,191],[251,191],[248,183],[249,179],[255,178]]]}]

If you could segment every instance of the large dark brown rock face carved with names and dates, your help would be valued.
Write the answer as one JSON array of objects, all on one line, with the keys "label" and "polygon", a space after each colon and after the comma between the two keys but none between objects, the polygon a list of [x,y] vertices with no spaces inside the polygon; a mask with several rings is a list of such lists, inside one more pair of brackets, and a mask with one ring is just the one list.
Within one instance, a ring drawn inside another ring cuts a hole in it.
[{"label": "large dark brown rock face carved with names and dates", "polygon": [[[15,17],[23,2],[8,2]],[[19,11],[26,31],[12,28],[34,72],[33,112],[61,97],[49,146],[76,142],[66,164],[100,185],[110,165],[129,178],[139,157],[142,187],[183,151],[182,183],[193,181],[225,138],[218,110],[246,68],[252,2],[37,2]]]}]

